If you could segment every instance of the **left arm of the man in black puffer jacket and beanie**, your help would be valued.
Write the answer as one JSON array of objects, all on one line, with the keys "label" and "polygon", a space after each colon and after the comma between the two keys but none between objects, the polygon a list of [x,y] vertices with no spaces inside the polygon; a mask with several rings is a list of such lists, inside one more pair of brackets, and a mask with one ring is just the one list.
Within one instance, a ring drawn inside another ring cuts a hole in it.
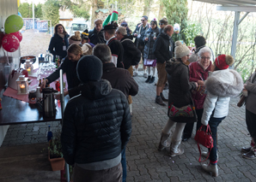
[{"label": "left arm of the man in black puffer jacket and beanie", "polygon": [[64,120],[61,132],[61,144],[62,152],[64,155],[64,160],[73,165],[75,163],[75,154],[76,154],[76,126],[74,112],[75,107],[70,105],[70,102],[67,103],[66,108],[64,109]]}]

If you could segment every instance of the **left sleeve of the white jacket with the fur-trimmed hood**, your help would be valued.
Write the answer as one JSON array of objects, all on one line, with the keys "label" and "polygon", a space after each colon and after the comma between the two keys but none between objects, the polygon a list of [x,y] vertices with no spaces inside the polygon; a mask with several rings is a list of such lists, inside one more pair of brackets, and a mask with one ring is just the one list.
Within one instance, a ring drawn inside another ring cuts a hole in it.
[{"label": "left sleeve of the white jacket with the fur-trimmed hood", "polygon": [[215,109],[217,98],[217,96],[212,95],[210,92],[207,93],[207,96],[204,100],[204,113],[201,120],[201,123],[204,126],[208,125],[210,115],[212,114],[212,111]]}]

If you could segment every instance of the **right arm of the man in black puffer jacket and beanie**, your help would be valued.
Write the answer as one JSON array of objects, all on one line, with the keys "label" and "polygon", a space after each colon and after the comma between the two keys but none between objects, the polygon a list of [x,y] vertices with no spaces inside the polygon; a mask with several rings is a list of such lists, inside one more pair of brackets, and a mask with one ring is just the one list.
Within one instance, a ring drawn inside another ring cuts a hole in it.
[{"label": "right arm of the man in black puffer jacket and beanie", "polygon": [[121,132],[121,141],[122,141],[122,150],[125,149],[125,145],[128,143],[131,137],[131,114],[127,99],[124,94],[122,94],[122,103],[124,109],[124,116],[122,120],[122,124],[120,126]]}]

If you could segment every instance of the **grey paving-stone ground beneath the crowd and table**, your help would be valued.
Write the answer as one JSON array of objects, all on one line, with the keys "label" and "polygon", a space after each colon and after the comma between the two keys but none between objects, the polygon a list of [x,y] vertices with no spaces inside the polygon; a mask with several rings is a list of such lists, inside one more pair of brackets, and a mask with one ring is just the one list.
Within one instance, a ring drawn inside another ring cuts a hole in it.
[{"label": "grey paving-stone ground beneath the crowd and table", "polygon": [[[144,83],[142,73],[135,79],[139,93],[133,97],[132,134],[126,148],[127,182],[255,181],[256,160],[241,157],[241,147],[248,146],[250,138],[245,109],[236,107],[238,98],[231,100],[229,116],[218,127],[219,177],[213,178],[200,167],[198,147],[193,139],[181,144],[185,150],[182,156],[169,157],[167,150],[156,149],[168,120],[167,107],[155,104],[155,85]],[[168,91],[164,95],[168,96]],[[58,122],[10,126],[3,146],[46,142],[48,125],[53,131],[60,127]],[[192,138],[194,134],[195,131]]]}]

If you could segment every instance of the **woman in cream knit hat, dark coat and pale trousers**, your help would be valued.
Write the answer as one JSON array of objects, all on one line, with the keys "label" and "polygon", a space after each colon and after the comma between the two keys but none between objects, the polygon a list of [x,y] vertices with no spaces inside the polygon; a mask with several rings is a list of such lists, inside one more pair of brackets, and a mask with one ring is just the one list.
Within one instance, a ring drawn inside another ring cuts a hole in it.
[{"label": "woman in cream knit hat, dark coat and pale trousers", "polygon": [[[169,84],[169,99],[168,105],[175,106],[176,108],[182,108],[188,104],[192,104],[191,93],[192,89],[196,89],[198,84],[195,82],[189,82],[189,70],[186,66],[186,61],[189,58],[190,50],[186,45],[180,45],[175,48],[175,62],[170,62],[166,66],[168,73],[168,84]],[[168,110],[168,116],[169,116]],[[171,138],[170,153],[169,156],[180,156],[184,153],[184,150],[179,148],[181,142],[182,132],[186,125],[186,122],[197,121],[196,117],[186,118],[181,120],[182,117],[169,118],[168,123],[162,130],[162,137],[158,150],[163,150],[168,147],[168,137],[171,128],[175,123],[176,127]]]}]

